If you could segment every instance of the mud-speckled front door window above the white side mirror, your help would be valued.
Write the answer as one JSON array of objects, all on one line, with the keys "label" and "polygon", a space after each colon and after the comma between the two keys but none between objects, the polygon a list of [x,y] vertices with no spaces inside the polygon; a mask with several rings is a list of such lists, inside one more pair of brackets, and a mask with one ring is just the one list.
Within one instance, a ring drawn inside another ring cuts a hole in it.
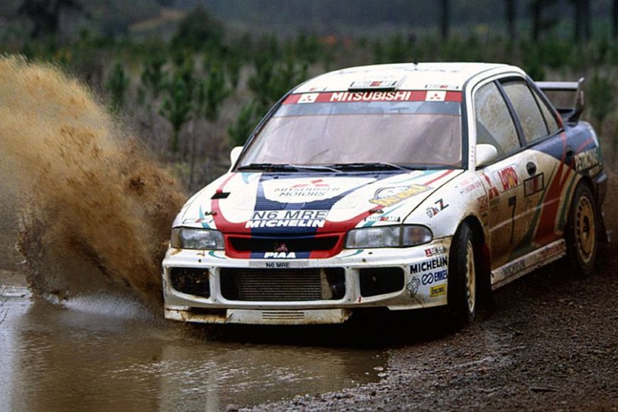
[{"label": "mud-speckled front door window above the white side mirror", "polygon": [[498,87],[492,82],[475,94],[477,116],[477,143],[496,146],[498,156],[519,148],[517,130],[506,102]]}]

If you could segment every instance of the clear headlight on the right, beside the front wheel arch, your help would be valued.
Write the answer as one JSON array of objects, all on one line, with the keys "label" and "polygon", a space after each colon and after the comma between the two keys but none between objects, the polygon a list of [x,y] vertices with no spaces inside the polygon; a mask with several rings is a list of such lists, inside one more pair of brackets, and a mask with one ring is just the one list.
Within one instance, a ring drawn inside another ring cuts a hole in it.
[{"label": "clear headlight on the right, beside the front wheel arch", "polygon": [[362,227],[347,232],[345,247],[347,249],[364,249],[373,247],[409,247],[431,242],[433,234],[425,226],[380,226]]}]

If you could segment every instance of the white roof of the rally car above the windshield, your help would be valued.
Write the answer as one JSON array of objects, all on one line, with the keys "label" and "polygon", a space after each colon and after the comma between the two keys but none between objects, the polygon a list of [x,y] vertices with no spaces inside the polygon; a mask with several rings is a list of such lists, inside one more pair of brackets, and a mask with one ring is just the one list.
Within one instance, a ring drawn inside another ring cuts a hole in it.
[{"label": "white roof of the rally car above the windshield", "polygon": [[[519,67],[497,63],[396,63],[348,67],[314,77],[296,87],[293,93],[340,92],[352,85],[370,82],[396,82],[396,90],[463,90],[470,78],[482,72],[515,71]],[[370,88],[370,87],[368,87]]]}]

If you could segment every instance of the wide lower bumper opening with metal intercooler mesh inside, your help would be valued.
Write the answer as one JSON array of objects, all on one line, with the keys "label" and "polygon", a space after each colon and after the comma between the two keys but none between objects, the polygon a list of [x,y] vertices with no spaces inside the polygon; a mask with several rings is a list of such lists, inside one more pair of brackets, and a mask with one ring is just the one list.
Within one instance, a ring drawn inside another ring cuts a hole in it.
[{"label": "wide lower bumper opening with metal intercooler mesh inside", "polygon": [[339,300],[345,273],[330,269],[221,269],[221,293],[227,300],[289,302]]}]

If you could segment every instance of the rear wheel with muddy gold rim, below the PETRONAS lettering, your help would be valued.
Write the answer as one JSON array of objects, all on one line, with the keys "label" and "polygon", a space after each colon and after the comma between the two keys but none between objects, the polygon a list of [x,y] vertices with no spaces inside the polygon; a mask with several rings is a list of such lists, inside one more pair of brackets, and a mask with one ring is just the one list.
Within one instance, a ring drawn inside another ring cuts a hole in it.
[{"label": "rear wheel with muddy gold rim, below the PETRONAS lettering", "polygon": [[597,204],[592,190],[585,183],[578,184],[573,194],[565,241],[567,246],[566,263],[570,270],[580,276],[589,276],[597,258],[597,231],[599,218]]}]

